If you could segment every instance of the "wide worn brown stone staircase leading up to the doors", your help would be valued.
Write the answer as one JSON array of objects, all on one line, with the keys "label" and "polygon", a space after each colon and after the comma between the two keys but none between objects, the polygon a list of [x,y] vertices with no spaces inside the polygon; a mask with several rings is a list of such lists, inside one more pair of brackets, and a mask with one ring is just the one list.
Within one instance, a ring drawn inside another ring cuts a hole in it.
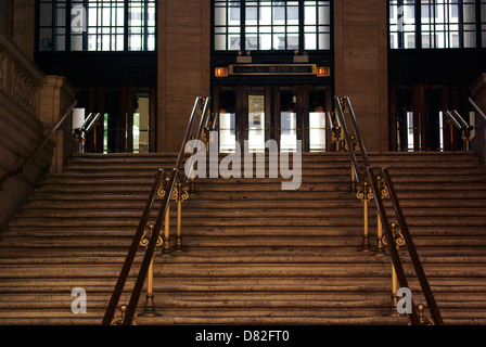
[{"label": "wide worn brown stone staircase leading up to the doors", "polygon": [[[370,160],[389,168],[444,323],[486,324],[486,172],[478,158],[371,153]],[[80,154],[62,175],[47,176],[1,234],[0,324],[100,324],[154,175],[175,162],[169,154]],[[297,191],[282,191],[282,179],[197,179],[183,203],[183,249],[156,252],[162,316],[136,323],[407,324],[393,314],[389,256],[361,249],[362,203],[350,191],[349,156],[304,154],[302,167]],[[389,200],[385,205],[393,216]],[[413,299],[425,304],[399,252]],[[86,290],[86,313],[72,312],[77,287]],[[139,314],[144,301],[142,293]]]}]

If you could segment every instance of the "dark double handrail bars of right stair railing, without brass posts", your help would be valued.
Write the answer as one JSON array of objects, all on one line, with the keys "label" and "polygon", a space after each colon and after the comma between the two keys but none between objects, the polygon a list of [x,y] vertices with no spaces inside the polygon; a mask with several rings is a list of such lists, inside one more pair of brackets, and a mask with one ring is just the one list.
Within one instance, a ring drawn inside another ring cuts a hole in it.
[{"label": "dark double handrail bars of right stair railing, without brass posts", "polygon": [[[350,104],[349,99],[347,97],[345,97],[344,98],[344,102],[346,103],[346,106],[347,106],[347,110],[348,110],[348,114],[349,114],[349,117],[350,117],[351,123],[353,123],[355,137],[356,137],[356,140],[358,141],[359,150],[360,150],[361,156],[362,156],[362,160],[363,160],[363,164],[366,166],[364,167],[364,172],[361,176],[359,175],[359,168],[358,168],[358,164],[357,164],[358,160],[357,160],[356,152],[355,152],[355,149],[354,149],[355,143],[353,143],[351,140],[350,140],[349,129],[348,129],[348,127],[346,125],[346,119],[344,117],[344,112],[343,112],[342,104],[341,104],[342,99],[336,97],[335,101],[336,101],[337,117],[338,117],[338,119],[341,121],[341,126],[344,129],[344,139],[346,141],[346,144],[347,144],[347,147],[348,147],[348,151],[349,151],[349,156],[351,158],[351,165],[353,165],[354,171],[356,172],[356,179],[357,179],[359,184],[364,184],[366,182],[368,182],[369,185],[371,187],[372,195],[373,195],[373,198],[374,198],[374,202],[375,202],[375,205],[376,205],[376,209],[378,209],[378,213],[379,213],[381,224],[383,227],[383,232],[384,232],[384,235],[385,235],[386,241],[387,241],[386,244],[388,245],[389,255],[391,255],[392,262],[393,262],[393,266],[394,266],[394,269],[395,269],[395,273],[397,275],[398,283],[400,284],[401,287],[409,287],[408,286],[407,277],[405,274],[404,267],[402,267],[402,264],[401,264],[401,260],[400,260],[400,256],[399,256],[398,250],[396,248],[395,239],[394,239],[394,235],[393,235],[393,233],[392,233],[392,231],[389,229],[388,217],[386,215],[386,210],[385,210],[385,207],[384,207],[382,194],[380,192],[380,189],[379,189],[379,185],[378,185],[378,182],[376,182],[378,178],[376,178],[376,176],[373,172],[373,168],[372,168],[372,166],[370,164],[367,150],[366,150],[366,147],[363,145],[362,138],[361,138],[361,134],[360,134],[360,131],[359,131],[359,127],[358,127],[358,124],[356,121],[355,112],[353,110],[353,106]],[[396,191],[395,191],[395,188],[393,185],[393,182],[392,182],[392,179],[391,179],[391,176],[389,176],[389,172],[388,172],[387,168],[382,168],[382,175],[383,175],[383,178],[385,180],[385,184],[386,184],[386,187],[388,189],[389,196],[392,198],[392,203],[393,203],[393,206],[394,206],[394,210],[395,210],[396,217],[398,219],[398,224],[400,226],[401,233],[402,233],[405,242],[407,244],[407,249],[408,249],[408,253],[410,255],[410,259],[411,259],[411,261],[413,264],[417,277],[419,279],[419,283],[420,283],[420,286],[422,288],[422,293],[423,293],[423,295],[425,297],[425,300],[426,300],[426,303],[427,303],[427,305],[429,305],[429,307],[431,309],[431,314],[432,314],[433,322],[435,324],[437,324],[437,325],[443,325],[444,322],[443,322],[440,312],[438,310],[438,307],[437,307],[437,304],[435,301],[434,295],[432,293],[431,286],[430,286],[429,281],[426,279],[425,272],[423,270],[422,262],[420,261],[420,258],[419,258],[418,253],[415,250],[412,236],[410,234],[410,231],[408,229],[407,222],[405,220],[405,216],[404,216],[404,213],[401,210],[401,207],[400,207],[400,204],[399,204],[399,201],[398,201],[398,197],[397,197],[397,194],[396,194]],[[408,317],[409,317],[410,323],[413,324],[413,325],[419,325],[419,324],[422,323],[420,318],[419,318],[419,316],[418,316],[418,312],[417,312],[417,309],[415,309],[414,305],[412,305],[411,312],[408,313]]]}]

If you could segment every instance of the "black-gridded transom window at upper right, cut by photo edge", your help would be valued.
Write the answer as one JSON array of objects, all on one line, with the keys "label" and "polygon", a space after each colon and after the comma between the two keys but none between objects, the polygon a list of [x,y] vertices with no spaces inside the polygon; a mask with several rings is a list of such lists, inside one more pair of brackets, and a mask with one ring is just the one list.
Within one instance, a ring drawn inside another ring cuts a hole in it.
[{"label": "black-gridded transom window at upper right, cut by photo edge", "polygon": [[486,47],[486,1],[389,0],[389,47]]}]

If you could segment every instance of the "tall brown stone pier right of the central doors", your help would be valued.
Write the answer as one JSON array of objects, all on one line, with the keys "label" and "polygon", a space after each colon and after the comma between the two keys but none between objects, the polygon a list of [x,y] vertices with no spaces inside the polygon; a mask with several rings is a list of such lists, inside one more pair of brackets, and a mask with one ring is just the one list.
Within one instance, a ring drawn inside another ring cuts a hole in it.
[{"label": "tall brown stone pier right of the central doors", "polygon": [[335,94],[349,97],[371,152],[388,151],[386,27],[386,1],[334,1]]}]

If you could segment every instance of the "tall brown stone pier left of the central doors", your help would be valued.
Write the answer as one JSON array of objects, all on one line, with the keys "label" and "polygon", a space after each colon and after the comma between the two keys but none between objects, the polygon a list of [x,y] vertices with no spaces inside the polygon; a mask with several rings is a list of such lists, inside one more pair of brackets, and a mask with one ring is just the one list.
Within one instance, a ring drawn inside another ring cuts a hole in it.
[{"label": "tall brown stone pier left of the central doors", "polygon": [[210,93],[210,1],[158,1],[157,152],[178,152],[196,97]]}]

